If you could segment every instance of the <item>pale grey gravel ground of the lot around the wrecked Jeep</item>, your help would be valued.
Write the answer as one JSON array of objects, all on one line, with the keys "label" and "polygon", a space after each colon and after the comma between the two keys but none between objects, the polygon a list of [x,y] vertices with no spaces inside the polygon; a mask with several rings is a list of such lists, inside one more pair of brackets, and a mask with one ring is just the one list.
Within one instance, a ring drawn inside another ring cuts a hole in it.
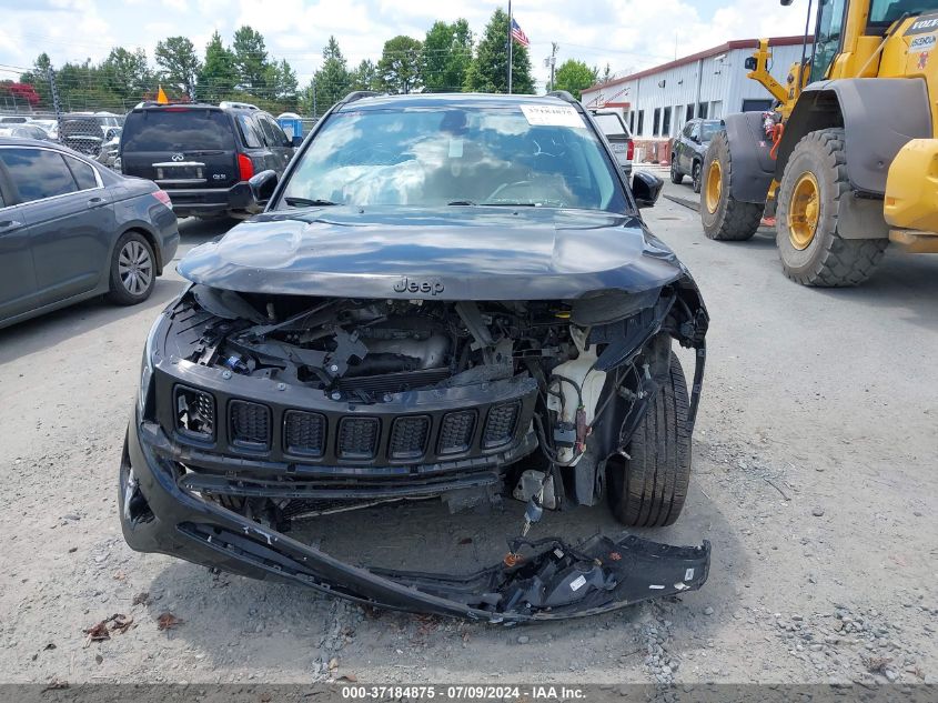
[{"label": "pale grey gravel ground of the lot around the wrecked Jeep", "polygon": [[[0,331],[0,681],[935,683],[938,258],[890,250],[860,289],[808,290],[784,278],[768,233],[716,243],[680,204],[646,212],[713,324],[688,502],[676,525],[643,534],[710,540],[703,590],[505,629],[131,552],[117,468],[143,338],[182,288],[173,271],[143,307],[93,301]],[[181,229],[181,253],[221,231]],[[370,553],[417,548],[465,566],[501,550],[490,535],[517,514],[480,523],[427,504],[310,534],[340,549],[362,531],[377,538]],[[604,509],[578,510],[546,514],[532,536],[564,525],[614,529]],[[109,639],[89,641],[114,615]]]}]

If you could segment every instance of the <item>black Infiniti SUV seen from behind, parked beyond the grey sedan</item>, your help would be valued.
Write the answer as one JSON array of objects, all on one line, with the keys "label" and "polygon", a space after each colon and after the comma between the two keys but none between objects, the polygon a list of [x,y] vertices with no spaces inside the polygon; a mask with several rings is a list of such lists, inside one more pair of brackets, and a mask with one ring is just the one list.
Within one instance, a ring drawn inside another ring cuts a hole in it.
[{"label": "black Infiniti SUV seen from behind, parked beyond the grey sedan", "polygon": [[241,102],[139,106],[121,134],[121,170],[155,181],[180,218],[258,211],[248,179],[283,173],[294,143],[276,121]]}]

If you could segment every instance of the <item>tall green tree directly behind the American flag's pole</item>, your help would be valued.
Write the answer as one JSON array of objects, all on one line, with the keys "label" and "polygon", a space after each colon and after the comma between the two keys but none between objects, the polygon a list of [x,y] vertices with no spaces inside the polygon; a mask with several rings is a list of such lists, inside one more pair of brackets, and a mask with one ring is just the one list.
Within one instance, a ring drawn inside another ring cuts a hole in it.
[{"label": "tall green tree directly behind the American flag's pole", "polygon": [[[508,16],[498,8],[482,32],[475,57],[466,71],[468,90],[488,93],[508,91]],[[531,57],[518,42],[512,50],[512,92],[533,93]]]}]

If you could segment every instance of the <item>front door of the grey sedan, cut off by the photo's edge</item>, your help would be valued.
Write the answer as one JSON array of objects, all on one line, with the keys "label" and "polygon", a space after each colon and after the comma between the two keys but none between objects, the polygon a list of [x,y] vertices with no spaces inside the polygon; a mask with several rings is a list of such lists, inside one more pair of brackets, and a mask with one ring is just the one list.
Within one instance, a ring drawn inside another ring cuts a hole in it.
[{"label": "front door of the grey sedan, cut off by the photo's edge", "polygon": [[0,322],[38,308],[29,228],[0,161]]}]

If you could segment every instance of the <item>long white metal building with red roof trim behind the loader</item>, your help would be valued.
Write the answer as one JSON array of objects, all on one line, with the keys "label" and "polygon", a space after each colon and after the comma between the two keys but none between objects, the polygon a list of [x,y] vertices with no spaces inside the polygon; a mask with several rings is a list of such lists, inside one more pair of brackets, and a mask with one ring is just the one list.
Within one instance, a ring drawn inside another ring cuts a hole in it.
[{"label": "long white metal building with red roof trim behind the loader", "polygon": [[[801,60],[803,37],[774,37],[771,74],[785,83],[788,69]],[[583,91],[587,108],[622,110],[636,139],[669,139],[695,117],[722,118],[733,112],[767,110],[768,91],[746,78],[744,61],[758,47],[755,39],[727,41],[689,57],[593,86]],[[810,58],[810,47],[807,49]]]}]

